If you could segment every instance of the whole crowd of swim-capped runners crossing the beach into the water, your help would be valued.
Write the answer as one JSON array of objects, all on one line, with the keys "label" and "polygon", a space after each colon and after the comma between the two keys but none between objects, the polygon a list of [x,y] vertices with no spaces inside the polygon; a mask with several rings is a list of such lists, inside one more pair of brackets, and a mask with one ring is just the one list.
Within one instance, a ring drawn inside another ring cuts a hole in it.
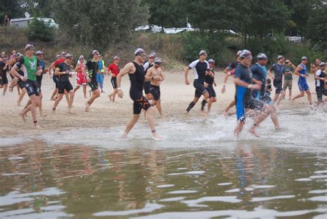
[{"label": "whole crowd of swim-capped runners crossing the beach into the water", "polygon": [[[75,92],[83,86],[83,95],[87,98],[86,89],[90,87],[90,98],[86,102],[85,111],[89,111],[90,106],[95,102],[101,93],[103,93],[103,77],[104,75],[111,74],[111,84],[113,92],[108,95],[110,101],[115,102],[115,97],[123,97],[123,91],[121,88],[121,77],[128,75],[130,78],[130,98],[133,100],[133,116],[126,125],[126,129],[123,133],[124,136],[128,135],[132,127],[139,120],[141,111],[145,112],[152,137],[155,140],[160,140],[161,137],[157,134],[155,129],[155,111],[154,106],[159,111],[160,117],[163,117],[161,110],[161,91],[160,85],[164,81],[164,68],[161,66],[161,59],[157,57],[155,53],[150,53],[148,61],[146,61],[146,52],[142,48],[135,50],[135,59],[121,70],[119,68],[119,57],[113,58],[112,64],[106,68],[102,56],[98,50],[92,51],[92,59],[86,60],[81,55],[77,61],[75,68],[72,66],[73,56],[69,53],[63,52],[61,55],[57,55],[55,61],[53,61],[48,68],[46,68],[43,61],[43,53],[38,50],[34,53],[34,46],[31,44],[26,45],[25,55],[12,51],[10,59],[6,58],[6,54],[1,53],[0,57],[0,81],[1,88],[3,88],[3,95],[6,94],[8,89],[7,72],[12,77],[9,89],[13,90],[14,86],[17,86],[21,92],[17,104],[21,104],[21,99],[26,93],[29,96],[29,101],[21,111],[20,115],[23,120],[26,120],[26,115],[29,111],[32,113],[32,119],[34,127],[41,128],[37,122],[37,108],[39,108],[40,115],[44,116],[42,110],[42,91],[41,82],[43,74],[53,72],[53,80],[56,85],[54,92],[52,93],[51,100],[54,101],[52,106],[52,112],[55,113],[57,106],[66,97],[68,102],[68,113],[73,114],[72,104],[74,102]],[[193,86],[195,87],[195,95],[192,102],[184,111],[184,114],[188,116],[190,110],[197,104],[201,96],[200,115],[207,115],[210,112],[211,106],[214,102],[217,102],[217,95],[215,93],[214,86],[217,86],[215,82],[215,60],[208,59],[208,55],[205,50],[199,52],[199,59],[192,61],[191,64],[186,66],[185,84],[190,84],[188,81],[188,71],[194,69],[195,79]],[[232,62],[225,70],[226,77],[222,84],[221,93],[226,91],[226,82],[228,77],[233,77],[235,82],[235,99],[225,108],[226,115],[232,115],[230,108],[236,106],[237,127],[235,128],[235,135],[238,135],[245,124],[246,117],[252,117],[254,123],[250,127],[249,131],[255,136],[259,136],[256,128],[259,124],[270,115],[275,128],[279,128],[279,121],[276,114],[275,106],[280,104],[282,99],[285,99],[286,90],[289,91],[289,99],[294,102],[295,99],[303,97],[305,93],[308,95],[309,106],[313,106],[309,86],[306,82],[308,77],[308,71],[306,64],[308,59],[306,57],[301,58],[301,63],[298,66],[292,64],[288,59],[279,55],[277,57],[277,63],[273,64],[268,70],[266,65],[268,64],[268,57],[264,53],[257,55],[257,63],[251,66],[252,54],[248,50],[239,50],[237,53],[237,60]],[[310,71],[315,73],[316,79],[316,93],[317,104],[324,103],[322,96],[326,95],[326,75],[324,73],[325,63],[319,59],[316,60],[316,64],[312,65]],[[70,83],[70,77],[73,72],[77,73],[77,86],[73,88]],[[267,75],[273,79],[273,85],[275,86],[275,97],[270,98],[270,91],[272,91],[271,80],[267,78]],[[282,83],[284,75],[284,85]],[[299,76],[299,91],[300,94],[292,97],[292,79],[293,75]],[[143,95],[143,91],[145,95]],[[208,105],[206,107],[206,105]]]}]

